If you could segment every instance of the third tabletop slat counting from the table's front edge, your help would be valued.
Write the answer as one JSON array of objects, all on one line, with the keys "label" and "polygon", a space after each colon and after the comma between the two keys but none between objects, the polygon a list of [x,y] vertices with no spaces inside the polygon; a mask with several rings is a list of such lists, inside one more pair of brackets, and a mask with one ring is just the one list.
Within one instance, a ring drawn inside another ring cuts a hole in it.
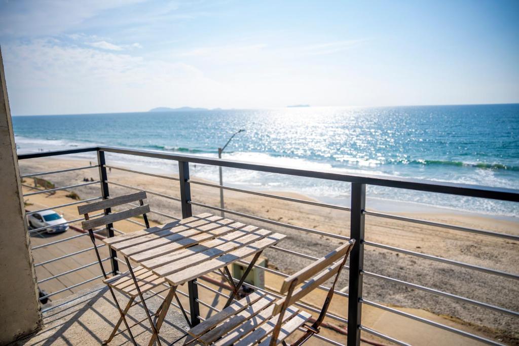
[{"label": "third tabletop slat counting from the table's front edge", "polygon": [[[184,248],[179,251],[174,251],[174,252],[168,253],[166,255],[161,255],[159,257],[151,258],[148,260],[142,260],[142,259],[134,259],[134,260],[139,261],[141,266],[143,266],[145,268],[155,269],[157,267],[167,265],[175,260],[179,260],[181,258],[190,256],[190,255],[202,252],[202,251],[206,251],[210,247],[218,246],[227,241],[237,239],[237,238],[242,237],[245,234],[249,234],[255,230],[257,230],[257,227],[247,226],[247,227],[243,227],[242,229],[227,233],[227,234],[225,234],[225,236],[218,237],[213,240],[205,241],[198,245],[190,246],[188,248]],[[139,254],[139,255],[141,255],[141,254]],[[133,257],[132,257],[132,259],[133,259]]]}]

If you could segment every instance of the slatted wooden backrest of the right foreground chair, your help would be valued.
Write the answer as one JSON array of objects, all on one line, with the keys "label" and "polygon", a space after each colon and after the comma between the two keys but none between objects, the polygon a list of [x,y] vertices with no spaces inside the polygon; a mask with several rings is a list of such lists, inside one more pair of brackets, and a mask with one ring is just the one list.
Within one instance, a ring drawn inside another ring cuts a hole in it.
[{"label": "slatted wooden backrest of the right foreground chair", "polygon": [[[333,278],[333,276],[335,275],[334,283],[330,288],[330,292],[327,297],[327,300],[330,300],[333,296],[333,291],[335,289],[337,277],[340,274],[340,271],[342,270],[344,265],[346,264],[346,259],[348,258],[348,255],[354,243],[355,240],[351,239],[348,243],[337,247],[331,253],[319,258],[309,266],[299,270],[298,272],[286,278],[281,286],[281,293],[287,294],[284,298],[278,299],[275,302],[273,315],[276,315],[282,311],[284,312],[286,308],[291,306],[297,300],[303,298],[304,296],[312,292],[312,290],[316,289],[319,285]],[[308,281],[305,283],[306,280]],[[296,288],[296,286],[298,286],[299,284],[303,285],[301,287]],[[326,313],[325,310],[327,310],[328,305],[329,302],[325,302],[321,314]],[[280,320],[283,318],[282,314],[279,318]]]}]

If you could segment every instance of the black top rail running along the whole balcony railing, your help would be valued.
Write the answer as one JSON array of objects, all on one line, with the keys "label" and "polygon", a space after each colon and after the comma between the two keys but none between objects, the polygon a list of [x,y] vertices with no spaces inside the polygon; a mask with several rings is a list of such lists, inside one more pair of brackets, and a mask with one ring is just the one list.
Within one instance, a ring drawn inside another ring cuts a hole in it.
[{"label": "black top rail running along the whole balcony railing", "polygon": [[253,163],[235,160],[226,160],[202,156],[183,155],[183,154],[170,154],[163,153],[161,151],[151,150],[136,150],[116,147],[88,147],[88,148],[76,148],[69,150],[56,150],[47,151],[42,153],[34,154],[21,154],[18,155],[18,159],[30,159],[36,157],[48,157],[57,155],[67,155],[76,153],[85,153],[88,151],[102,150],[108,153],[126,154],[126,155],[137,155],[143,157],[166,159],[174,161],[186,161],[199,164],[209,164],[215,166],[253,170],[268,173],[287,174],[295,176],[304,176],[310,178],[327,179],[340,182],[349,183],[360,183],[367,185],[378,185],[394,188],[403,188],[410,190],[419,190],[427,192],[437,193],[448,193],[450,195],[468,196],[468,197],[479,197],[497,199],[503,201],[519,202],[519,190],[501,188],[501,187],[489,187],[469,184],[456,184],[447,182],[434,182],[412,178],[402,178],[393,176],[378,176],[370,174],[345,174],[331,171],[312,171],[305,169],[297,169],[291,167],[283,167],[277,165],[269,165],[264,163]]}]

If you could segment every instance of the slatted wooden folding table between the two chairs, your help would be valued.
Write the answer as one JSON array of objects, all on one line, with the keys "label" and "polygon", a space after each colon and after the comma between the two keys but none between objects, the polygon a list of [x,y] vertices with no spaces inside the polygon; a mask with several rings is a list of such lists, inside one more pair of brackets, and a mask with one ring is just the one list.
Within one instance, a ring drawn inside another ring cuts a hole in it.
[{"label": "slatted wooden folding table between the two chairs", "polygon": [[[125,257],[129,268],[127,273],[108,280],[113,280],[111,285],[115,289],[124,289],[128,280],[133,280],[142,301],[143,290],[165,283],[170,285],[167,297],[157,310],[155,324],[148,309],[144,309],[153,332],[149,345],[155,341],[160,345],[158,331],[173,297],[177,299],[187,323],[191,326],[175,294],[179,285],[217,270],[233,289],[225,304],[227,307],[238,296],[243,281],[265,248],[277,244],[285,237],[280,233],[204,213],[104,239],[105,244]],[[238,283],[235,283],[228,266],[249,256],[254,257]],[[132,268],[131,262],[137,266]]]}]

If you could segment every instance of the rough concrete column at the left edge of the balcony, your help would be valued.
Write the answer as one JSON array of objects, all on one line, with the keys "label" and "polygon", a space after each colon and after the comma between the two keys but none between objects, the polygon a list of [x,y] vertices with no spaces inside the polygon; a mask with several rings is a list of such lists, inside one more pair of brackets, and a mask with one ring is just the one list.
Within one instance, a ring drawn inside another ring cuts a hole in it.
[{"label": "rough concrete column at the left edge of the balcony", "polygon": [[0,50],[0,344],[42,323]]}]

